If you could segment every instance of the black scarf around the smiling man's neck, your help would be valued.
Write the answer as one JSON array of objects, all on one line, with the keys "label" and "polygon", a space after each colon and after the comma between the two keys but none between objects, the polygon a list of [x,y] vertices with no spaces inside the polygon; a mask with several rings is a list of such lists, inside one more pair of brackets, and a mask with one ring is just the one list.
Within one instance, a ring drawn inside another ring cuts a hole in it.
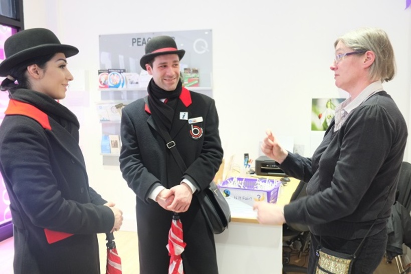
[{"label": "black scarf around the smiling man's neck", "polygon": [[[165,91],[154,83],[151,79],[147,87],[148,92],[148,107],[151,114],[155,115],[157,120],[167,128],[171,129],[172,119],[174,117],[175,106],[177,105],[178,97],[181,94],[182,83],[178,81],[177,87],[173,91]],[[164,104],[160,99],[167,99],[167,103]]]}]

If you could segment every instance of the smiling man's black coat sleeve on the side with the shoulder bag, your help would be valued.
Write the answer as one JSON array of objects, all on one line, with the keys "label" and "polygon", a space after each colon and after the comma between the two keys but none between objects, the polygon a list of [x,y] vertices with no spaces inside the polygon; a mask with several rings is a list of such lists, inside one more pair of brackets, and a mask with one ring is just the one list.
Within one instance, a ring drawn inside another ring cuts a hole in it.
[{"label": "smiling man's black coat sleeve on the side with the shoulder bag", "polygon": [[183,178],[194,182],[200,189],[205,189],[210,184],[223,160],[223,148],[219,134],[219,115],[214,100],[211,100],[206,117],[201,153],[188,166],[183,175]]}]

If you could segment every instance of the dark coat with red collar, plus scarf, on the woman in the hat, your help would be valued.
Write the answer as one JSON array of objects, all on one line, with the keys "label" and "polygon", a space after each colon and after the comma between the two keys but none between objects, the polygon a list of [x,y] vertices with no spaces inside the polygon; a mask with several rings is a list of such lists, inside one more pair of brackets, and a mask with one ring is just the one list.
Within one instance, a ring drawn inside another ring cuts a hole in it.
[{"label": "dark coat with red collar, plus scarf, on the woman in the hat", "polygon": [[[11,201],[14,272],[100,273],[96,233],[111,230],[114,214],[89,187],[77,118],[42,93],[17,90],[13,98],[0,127],[0,171]],[[49,244],[44,228],[74,235]]]}]

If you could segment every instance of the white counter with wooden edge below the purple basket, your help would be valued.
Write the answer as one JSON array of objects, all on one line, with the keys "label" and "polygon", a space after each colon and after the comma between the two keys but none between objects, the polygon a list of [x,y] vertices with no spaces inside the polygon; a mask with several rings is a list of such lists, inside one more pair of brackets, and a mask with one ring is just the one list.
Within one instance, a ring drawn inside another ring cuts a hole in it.
[{"label": "white counter with wooden edge below the purple basket", "polygon": [[257,222],[252,207],[228,199],[232,222],[215,235],[220,274],[282,272],[283,227]]}]

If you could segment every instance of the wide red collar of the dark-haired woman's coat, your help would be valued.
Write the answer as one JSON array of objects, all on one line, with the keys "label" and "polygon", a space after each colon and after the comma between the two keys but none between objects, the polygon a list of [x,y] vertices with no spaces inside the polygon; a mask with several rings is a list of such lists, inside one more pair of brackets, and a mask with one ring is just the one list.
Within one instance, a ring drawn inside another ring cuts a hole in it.
[{"label": "wide red collar of the dark-haired woman's coat", "polygon": [[51,130],[49,117],[33,105],[10,99],[6,115],[24,115],[36,120],[43,128]]}]

